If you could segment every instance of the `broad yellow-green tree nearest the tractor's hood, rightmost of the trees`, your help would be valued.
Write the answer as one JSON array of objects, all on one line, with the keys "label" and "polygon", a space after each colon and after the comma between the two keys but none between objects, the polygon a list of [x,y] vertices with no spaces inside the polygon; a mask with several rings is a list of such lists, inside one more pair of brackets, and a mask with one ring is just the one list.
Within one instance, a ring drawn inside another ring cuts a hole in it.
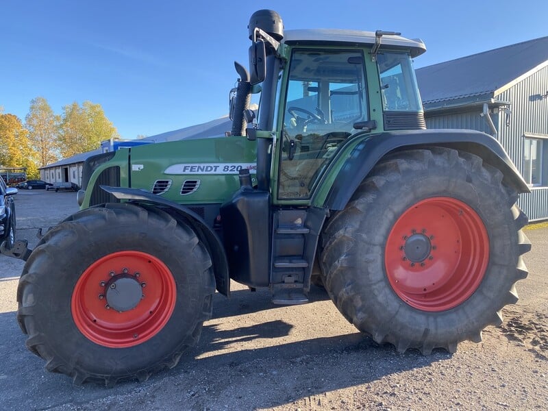
[{"label": "broad yellow-green tree nearest the tractor's hood, rightmost of the trees", "polygon": [[84,101],[63,107],[60,123],[60,151],[63,158],[99,148],[101,141],[119,138],[100,104]]}]

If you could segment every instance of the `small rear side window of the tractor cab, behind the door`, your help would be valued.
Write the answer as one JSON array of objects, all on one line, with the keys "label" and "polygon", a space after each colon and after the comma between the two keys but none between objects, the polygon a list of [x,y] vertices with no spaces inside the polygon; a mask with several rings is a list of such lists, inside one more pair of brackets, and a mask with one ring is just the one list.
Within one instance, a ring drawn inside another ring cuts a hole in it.
[{"label": "small rear side window of the tractor cab, behind the door", "polygon": [[422,110],[412,60],[407,53],[385,52],[377,55],[385,111]]}]

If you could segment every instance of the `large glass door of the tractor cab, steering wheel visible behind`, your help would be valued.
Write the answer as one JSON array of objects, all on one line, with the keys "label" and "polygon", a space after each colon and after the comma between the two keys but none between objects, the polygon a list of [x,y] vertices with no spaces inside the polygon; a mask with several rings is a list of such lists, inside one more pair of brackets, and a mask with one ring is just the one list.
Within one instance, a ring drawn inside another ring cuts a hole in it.
[{"label": "large glass door of the tractor cab, steering wheel visible behind", "polygon": [[338,149],[369,120],[362,49],[294,49],[286,75],[274,201],[310,197]]}]

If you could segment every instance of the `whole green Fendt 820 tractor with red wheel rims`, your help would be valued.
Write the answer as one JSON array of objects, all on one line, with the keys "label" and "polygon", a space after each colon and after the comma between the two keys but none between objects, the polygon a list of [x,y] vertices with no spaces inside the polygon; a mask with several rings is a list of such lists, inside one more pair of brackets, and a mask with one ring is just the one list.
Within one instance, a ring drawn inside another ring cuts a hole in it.
[{"label": "whole green Fendt 820 tractor with red wheel rims", "polygon": [[89,158],[81,210],[20,253],[17,318],[49,371],[111,386],[175,366],[231,279],[275,304],[322,284],[402,353],[479,342],[517,301],[527,184],[491,136],[426,129],[423,42],[284,31],[271,10],[249,38],[231,131]]}]

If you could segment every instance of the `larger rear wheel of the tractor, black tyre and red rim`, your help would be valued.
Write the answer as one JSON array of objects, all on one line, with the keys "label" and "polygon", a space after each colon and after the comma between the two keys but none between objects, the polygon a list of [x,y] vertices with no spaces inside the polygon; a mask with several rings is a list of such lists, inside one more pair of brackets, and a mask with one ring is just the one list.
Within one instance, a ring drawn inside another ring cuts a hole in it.
[{"label": "larger rear wheel of the tractor, black tyre and red rim", "polygon": [[322,235],[323,283],[338,310],[399,352],[481,341],[527,276],[527,217],[502,179],[453,149],[380,162]]}]

